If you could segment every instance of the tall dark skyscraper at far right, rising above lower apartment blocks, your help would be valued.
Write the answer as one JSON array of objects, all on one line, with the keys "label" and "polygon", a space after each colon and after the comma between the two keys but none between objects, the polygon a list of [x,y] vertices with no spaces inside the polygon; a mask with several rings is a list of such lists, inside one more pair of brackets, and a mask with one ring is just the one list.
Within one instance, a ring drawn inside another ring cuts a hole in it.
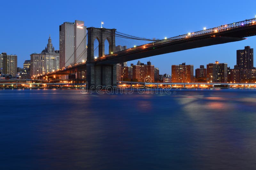
[{"label": "tall dark skyscraper at far right, rising above lower apartment blocks", "polygon": [[236,65],[239,69],[253,68],[253,48],[244,47],[244,50],[236,50]]}]

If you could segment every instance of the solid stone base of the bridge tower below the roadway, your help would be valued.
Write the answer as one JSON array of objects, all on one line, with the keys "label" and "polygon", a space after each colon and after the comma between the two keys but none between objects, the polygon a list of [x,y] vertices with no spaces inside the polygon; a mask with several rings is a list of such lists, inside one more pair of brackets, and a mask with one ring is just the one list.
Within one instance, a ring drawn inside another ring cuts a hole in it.
[{"label": "solid stone base of the bridge tower below the roadway", "polygon": [[87,88],[94,89],[100,86],[116,88],[116,65],[87,64],[86,67]]}]

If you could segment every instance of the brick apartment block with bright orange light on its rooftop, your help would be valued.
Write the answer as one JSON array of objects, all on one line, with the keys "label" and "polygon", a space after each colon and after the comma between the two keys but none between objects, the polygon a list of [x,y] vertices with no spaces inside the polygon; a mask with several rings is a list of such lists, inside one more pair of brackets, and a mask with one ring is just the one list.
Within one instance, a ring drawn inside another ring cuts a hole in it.
[{"label": "brick apartment block with bright orange light on its rooftop", "polygon": [[228,81],[228,64],[227,63],[219,63],[216,61],[215,63],[209,63],[206,67],[207,80],[209,82],[221,82],[225,83]]}]

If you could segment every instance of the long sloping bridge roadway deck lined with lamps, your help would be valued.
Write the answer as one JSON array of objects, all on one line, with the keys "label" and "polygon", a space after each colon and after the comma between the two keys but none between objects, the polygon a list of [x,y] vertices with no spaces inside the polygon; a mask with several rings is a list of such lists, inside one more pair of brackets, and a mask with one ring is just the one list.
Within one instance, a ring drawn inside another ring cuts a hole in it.
[{"label": "long sloping bridge roadway deck lined with lamps", "polygon": [[[114,65],[117,63],[165,53],[241,41],[245,39],[244,37],[254,35],[256,35],[256,19],[246,19],[244,21],[179,35],[165,40],[159,40],[153,43],[148,43],[116,53],[104,55],[94,59],[94,61],[90,61],[90,63],[95,63],[95,65]],[[46,73],[45,75],[50,76],[54,74],[69,74],[70,70],[79,70],[85,68],[86,62],[81,62],[72,66],[61,68],[54,72]]]}]

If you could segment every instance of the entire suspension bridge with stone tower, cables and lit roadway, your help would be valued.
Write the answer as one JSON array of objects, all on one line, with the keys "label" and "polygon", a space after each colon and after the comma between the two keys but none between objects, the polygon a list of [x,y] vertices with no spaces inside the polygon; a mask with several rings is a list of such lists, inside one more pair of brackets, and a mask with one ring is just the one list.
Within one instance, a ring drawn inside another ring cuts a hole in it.
[{"label": "entire suspension bridge with stone tower, cables and lit roadway", "polygon": [[[87,28],[84,39],[88,40],[87,48],[83,51],[87,59],[80,63],[54,70],[38,79],[67,76],[77,83],[82,80],[87,86],[97,87],[116,86],[116,64],[160,54],[189,50],[216,44],[244,40],[245,37],[256,35],[256,19],[221,25],[210,29],[191,32],[164,39],[148,39],[118,32],[116,29]],[[97,46],[95,45],[97,42]],[[108,47],[105,48],[105,41]],[[95,51],[97,55],[95,55]],[[108,52],[106,52],[108,51]],[[71,58],[72,56],[70,56]],[[86,76],[82,74],[86,73]],[[85,80],[86,77],[86,80]]]}]

